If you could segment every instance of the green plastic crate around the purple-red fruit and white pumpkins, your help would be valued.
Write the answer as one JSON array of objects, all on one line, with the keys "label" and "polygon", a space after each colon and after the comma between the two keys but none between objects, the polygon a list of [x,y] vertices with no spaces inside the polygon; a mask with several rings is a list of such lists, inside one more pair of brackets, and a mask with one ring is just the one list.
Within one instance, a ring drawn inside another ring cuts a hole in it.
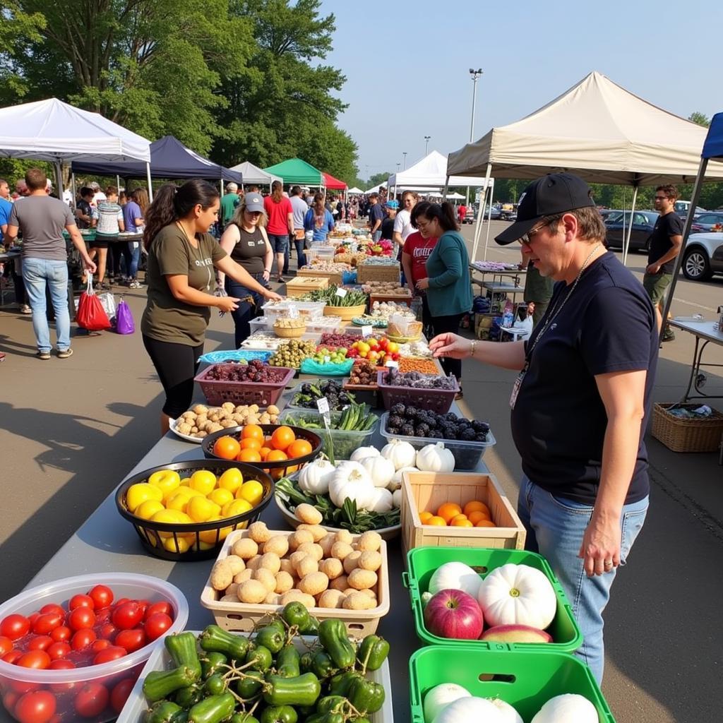
[{"label": "green plastic crate around the purple-red fruit and white pumpkins", "polygon": [[427,645],[458,645],[459,641],[450,638],[440,638],[432,635],[424,625],[424,612],[422,609],[422,593],[427,591],[429,578],[432,573],[445,562],[464,562],[471,568],[479,570],[484,576],[495,568],[500,568],[508,562],[515,565],[529,565],[531,568],[541,570],[552,583],[557,596],[557,613],[547,632],[552,636],[554,643],[487,643],[484,641],[472,642],[471,645],[487,650],[540,650],[572,653],[583,644],[583,636],[573,616],[568,598],[562,586],[557,581],[547,560],[534,552],[523,549],[492,549],[487,547],[414,547],[407,554],[408,573],[402,573],[404,586],[409,589],[411,609],[414,613],[414,627],[416,634]]}]

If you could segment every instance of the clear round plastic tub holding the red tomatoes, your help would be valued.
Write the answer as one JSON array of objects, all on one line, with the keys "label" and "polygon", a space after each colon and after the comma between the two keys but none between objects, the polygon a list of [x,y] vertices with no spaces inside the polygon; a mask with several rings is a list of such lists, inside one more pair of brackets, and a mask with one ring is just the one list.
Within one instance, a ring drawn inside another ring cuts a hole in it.
[{"label": "clear round plastic tub holding the red tomatoes", "polygon": [[[91,573],[44,583],[22,591],[0,605],[0,619],[12,613],[31,615],[51,602],[67,609],[68,601],[73,595],[85,594],[95,585],[108,586],[113,591],[115,600],[127,597],[145,599],[152,603],[170,602],[174,609],[174,624],[168,629],[168,633],[180,632],[187,623],[188,603],[176,586],[165,580],[135,573]],[[0,660],[0,693],[7,702],[6,693],[21,692],[25,686],[27,688],[43,686],[45,690],[58,696],[56,713],[61,715],[64,723],[109,721],[118,715],[118,711],[114,711],[110,703],[97,716],[81,717],[77,714],[74,709],[75,696],[69,688],[74,686],[80,690],[86,683],[100,683],[111,692],[121,680],[136,680],[142,667],[158,646],[163,647],[163,636],[117,660],[69,670],[31,669]]]}]

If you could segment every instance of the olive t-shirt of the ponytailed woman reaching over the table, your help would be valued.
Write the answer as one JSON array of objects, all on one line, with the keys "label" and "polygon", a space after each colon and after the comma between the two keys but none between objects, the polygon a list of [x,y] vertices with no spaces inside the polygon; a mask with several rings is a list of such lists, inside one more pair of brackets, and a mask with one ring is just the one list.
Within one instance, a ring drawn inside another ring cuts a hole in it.
[{"label": "olive t-shirt of the ponytailed woman reaching over the table", "polygon": [[213,294],[214,266],[227,254],[210,234],[196,234],[196,240],[198,248],[194,249],[186,234],[172,223],[161,228],[150,244],[145,277],[148,300],[140,328],[152,339],[189,346],[203,343],[210,307],[179,301],[166,280],[167,275],[187,276],[189,286]]}]

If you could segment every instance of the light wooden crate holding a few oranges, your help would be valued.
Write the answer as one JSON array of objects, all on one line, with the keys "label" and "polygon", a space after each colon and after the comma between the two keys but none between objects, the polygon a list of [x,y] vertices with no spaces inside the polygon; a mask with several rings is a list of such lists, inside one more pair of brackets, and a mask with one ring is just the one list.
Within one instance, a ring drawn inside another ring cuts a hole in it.
[{"label": "light wooden crate holding a few oranges", "polygon": [[[423,525],[419,511],[434,512],[442,502],[479,500],[489,507],[497,527]],[[491,474],[405,472],[401,504],[404,557],[413,547],[494,547],[523,549],[525,528],[505,492]]]}]

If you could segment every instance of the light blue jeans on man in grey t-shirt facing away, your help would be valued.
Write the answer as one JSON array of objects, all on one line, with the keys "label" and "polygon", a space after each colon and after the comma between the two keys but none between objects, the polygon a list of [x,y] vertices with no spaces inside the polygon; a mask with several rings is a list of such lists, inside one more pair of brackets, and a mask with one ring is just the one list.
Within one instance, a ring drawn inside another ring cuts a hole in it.
[{"label": "light blue jeans on man in grey t-shirt facing away", "polygon": [[55,328],[58,334],[58,351],[70,346],[70,314],[68,312],[68,265],[65,261],[46,259],[23,259],[22,281],[25,282],[27,298],[33,309],[33,331],[38,351],[49,352],[50,328],[46,316],[46,285],[55,312]]}]

